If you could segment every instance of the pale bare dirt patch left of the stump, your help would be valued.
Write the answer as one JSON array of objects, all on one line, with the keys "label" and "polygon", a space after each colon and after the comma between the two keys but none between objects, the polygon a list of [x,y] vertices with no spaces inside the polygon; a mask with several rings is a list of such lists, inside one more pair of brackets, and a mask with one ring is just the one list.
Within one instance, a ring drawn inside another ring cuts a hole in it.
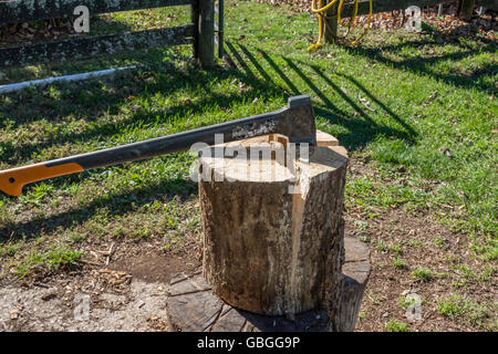
[{"label": "pale bare dirt patch left of the stump", "polygon": [[68,273],[4,284],[0,331],[168,331],[169,280],[199,268],[197,250],[196,240],[186,240],[175,253],[121,244],[108,264],[102,256]]}]

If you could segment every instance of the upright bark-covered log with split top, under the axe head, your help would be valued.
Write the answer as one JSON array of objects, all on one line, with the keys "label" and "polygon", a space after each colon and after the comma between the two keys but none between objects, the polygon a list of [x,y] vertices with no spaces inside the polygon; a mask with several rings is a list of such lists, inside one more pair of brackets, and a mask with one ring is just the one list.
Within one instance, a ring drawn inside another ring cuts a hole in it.
[{"label": "upright bark-covered log with split top, under the axe head", "polygon": [[309,158],[301,149],[289,159],[278,135],[199,158],[204,275],[231,306],[266,315],[338,306],[347,153],[324,136]]}]

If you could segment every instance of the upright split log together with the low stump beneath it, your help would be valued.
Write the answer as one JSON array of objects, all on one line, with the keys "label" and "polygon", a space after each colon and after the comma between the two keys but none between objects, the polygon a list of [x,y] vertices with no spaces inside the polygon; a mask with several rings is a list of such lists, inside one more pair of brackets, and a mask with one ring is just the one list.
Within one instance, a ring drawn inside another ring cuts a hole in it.
[{"label": "upright split log together with the low stump beneath it", "polygon": [[297,159],[282,158],[287,143],[268,135],[203,152],[203,275],[172,281],[174,330],[354,330],[370,253],[344,240],[347,154],[322,132]]}]

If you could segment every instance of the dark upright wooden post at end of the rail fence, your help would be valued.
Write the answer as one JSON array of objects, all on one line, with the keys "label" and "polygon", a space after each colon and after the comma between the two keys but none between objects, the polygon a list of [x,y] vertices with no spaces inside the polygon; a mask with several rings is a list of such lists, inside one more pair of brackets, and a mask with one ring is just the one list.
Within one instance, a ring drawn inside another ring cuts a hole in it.
[{"label": "dark upright wooden post at end of the rail fence", "polygon": [[199,0],[198,55],[204,69],[215,67],[215,0]]}]

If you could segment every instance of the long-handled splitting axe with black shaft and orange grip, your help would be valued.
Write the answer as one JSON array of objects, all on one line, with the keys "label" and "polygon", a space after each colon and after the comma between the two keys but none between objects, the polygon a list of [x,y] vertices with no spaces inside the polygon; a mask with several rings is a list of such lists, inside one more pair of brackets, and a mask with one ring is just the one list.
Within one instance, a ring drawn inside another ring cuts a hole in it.
[{"label": "long-handled splitting axe with black shaft and orange grip", "polygon": [[27,184],[84,170],[188,150],[196,143],[215,144],[215,134],[224,142],[246,139],[267,134],[281,134],[289,143],[315,145],[317,128],[309,96],[290,97],[279,111],[216,124],[139,143],[75,155],[45,163],[0,171],[0,190],[20,196]]}]

